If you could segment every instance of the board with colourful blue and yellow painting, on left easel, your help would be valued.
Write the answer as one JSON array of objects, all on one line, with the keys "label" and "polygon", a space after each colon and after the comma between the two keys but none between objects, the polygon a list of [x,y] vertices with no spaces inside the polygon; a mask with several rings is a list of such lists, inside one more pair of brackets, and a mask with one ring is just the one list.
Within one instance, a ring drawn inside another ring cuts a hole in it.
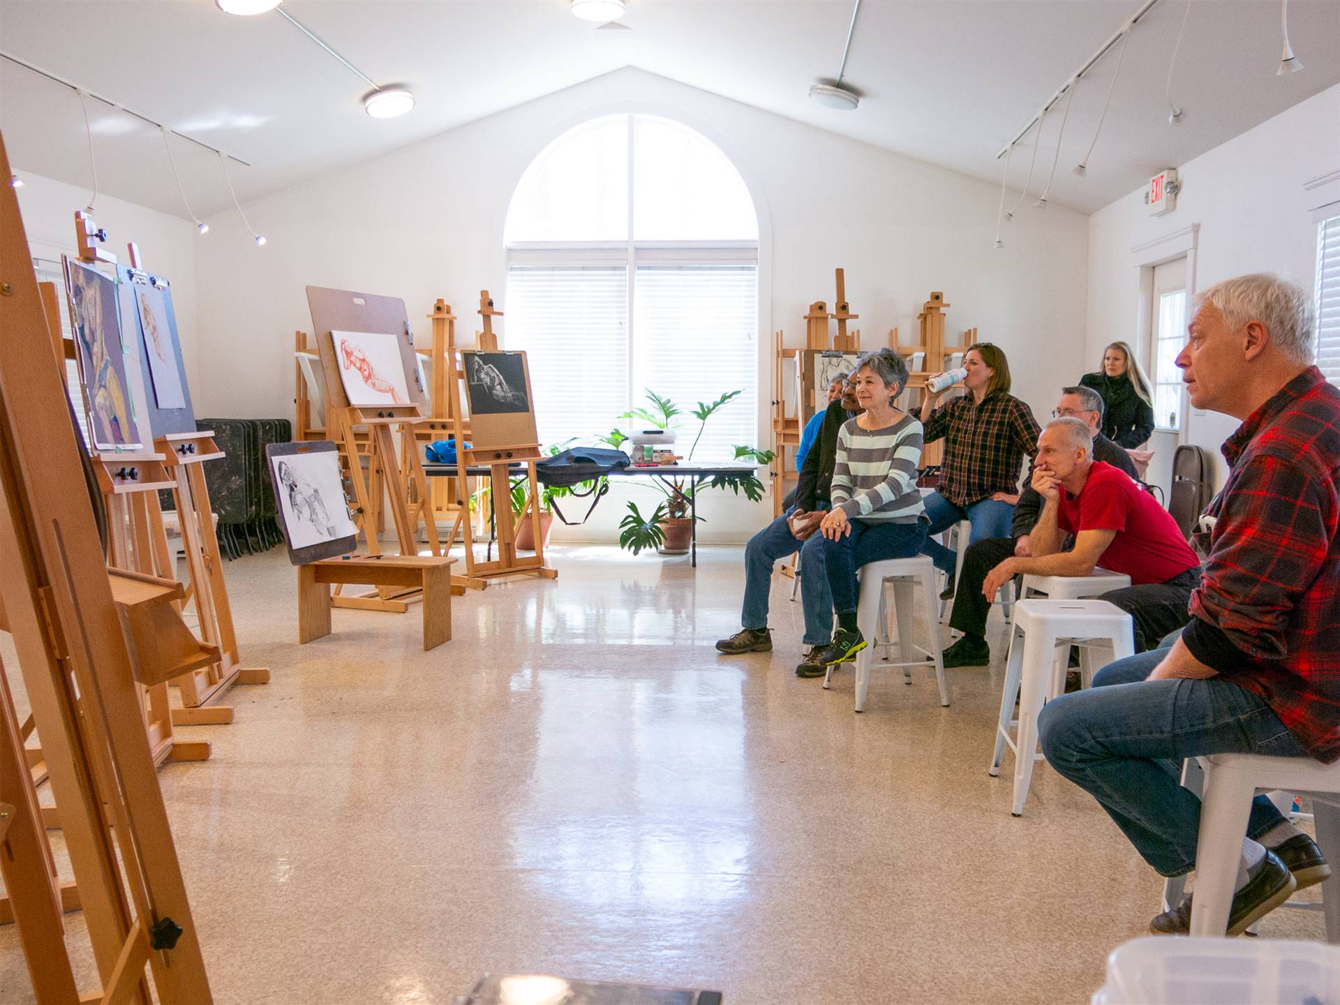
[{"label": "board with colourful blue and yellow painting, on left easel", "polygon": [[71,326],[84,386],[88,436],[98,450],[138,449],[145,437],[135,414],[135,398],[127,379],[131,358],[138,383],[134,342],[122,342],[122,318],[117,281],[91,265],[66,257],[66,288]]}]

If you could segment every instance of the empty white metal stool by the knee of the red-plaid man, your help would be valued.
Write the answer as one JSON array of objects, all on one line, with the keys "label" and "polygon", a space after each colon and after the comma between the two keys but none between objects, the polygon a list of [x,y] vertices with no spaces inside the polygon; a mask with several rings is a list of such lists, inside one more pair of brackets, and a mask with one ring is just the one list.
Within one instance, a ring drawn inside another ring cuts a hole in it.
[{"label": "empty white metal stool by the knee of the red-plaid man", "polygon": [[[1065,690],[1065,659],[1057,658],[1057,653],[1068,653],[1071,646],[1081,646],[1080,666],[1084,686],[1088,687],[1093,679],[1089,647],[1110,649],[1112,659],[1135,655],[1131,615],[1107,600],[1034,599],[1014,604],[1001,716],[996,726],[996,754],[990,766],[990,775],[998,776],[1005,745],[1009,744],[1014,750],[1014,805],[1010,811],[1014,816],[1022,815],[1033,780],[1033,764],[1043,760],[1037,753],[1037,716],[1048,698],[1056,698]],[[1009,728],[1016,725],[1016,695],[1018,728],[1014,740],[1010,740]]]}]

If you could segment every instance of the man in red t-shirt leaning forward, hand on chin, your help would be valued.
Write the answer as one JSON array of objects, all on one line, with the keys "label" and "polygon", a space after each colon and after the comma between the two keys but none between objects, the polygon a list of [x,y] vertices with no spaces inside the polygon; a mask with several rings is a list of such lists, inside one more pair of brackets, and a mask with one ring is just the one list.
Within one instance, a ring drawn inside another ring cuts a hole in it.
[{"label": "man in red t-shirt leaning forward, hand on chin", "polygon": [[[1201,563],[1172,516],[1126,472],[1093,460],[1089,427],[1075,418],[1048,423],[1037,441],[1033,488],[1043,515],[1029,537],[1033,557],[1012,557],[982,584],[988,598],[1020,574],[1088,576],[1101,565],[1131,586],[1103,595],[1131,615],[1143,653],[1190,619]],[[1075,547],[1061,551],[1065,535]]]}]

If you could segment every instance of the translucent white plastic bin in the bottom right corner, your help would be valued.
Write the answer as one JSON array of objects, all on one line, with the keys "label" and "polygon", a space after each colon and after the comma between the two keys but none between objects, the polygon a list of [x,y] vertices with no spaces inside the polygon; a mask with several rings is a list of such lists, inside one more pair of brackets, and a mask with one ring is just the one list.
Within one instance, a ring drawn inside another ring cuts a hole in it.
[{"label": "translucent white plastic bin in the bottom right corner", "polygon": [[1148,935],[1112,951],[1092,1005],[1340,1005],[1340,946]]}]

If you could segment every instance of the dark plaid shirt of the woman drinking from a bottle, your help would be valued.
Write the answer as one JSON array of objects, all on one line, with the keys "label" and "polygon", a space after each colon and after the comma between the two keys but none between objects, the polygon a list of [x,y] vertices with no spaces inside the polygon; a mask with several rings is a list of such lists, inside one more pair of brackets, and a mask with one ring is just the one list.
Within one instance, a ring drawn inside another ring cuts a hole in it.
[{"label": "dark plaid shirt of the woman drinking from a bottle", "polygon": [[981,405],[972,394],[941,405],[926,422],[926,442],[943,437],[939,493],[955,507],[970,507],[994,492],[1018,492],[1024,456],[1037,454],[1041,430],[1033,411],[1005,391]]}]

